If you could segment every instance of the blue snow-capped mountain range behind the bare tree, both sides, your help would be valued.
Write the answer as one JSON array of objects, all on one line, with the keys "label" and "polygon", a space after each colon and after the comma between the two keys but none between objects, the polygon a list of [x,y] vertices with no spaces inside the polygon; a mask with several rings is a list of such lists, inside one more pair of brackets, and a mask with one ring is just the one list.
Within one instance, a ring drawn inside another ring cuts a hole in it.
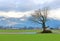
[{"label": "blue snow-capped mountain range behind the bare tree, both sides", "polygon": [[[21,18],[6,18],[3,16],[0,16],[0,26],[13,26],[13,27],[24,27],[24,26],[32,26],[32,27],[41,27],[40,24],[34,23],[30,20],[28,20],[30,17],[21,17]],[[26,20],[25,20],[26,19]],[[60,26],[60,20],[49,18],[46,22],[47,26],[50,27],[59,27]]]}]

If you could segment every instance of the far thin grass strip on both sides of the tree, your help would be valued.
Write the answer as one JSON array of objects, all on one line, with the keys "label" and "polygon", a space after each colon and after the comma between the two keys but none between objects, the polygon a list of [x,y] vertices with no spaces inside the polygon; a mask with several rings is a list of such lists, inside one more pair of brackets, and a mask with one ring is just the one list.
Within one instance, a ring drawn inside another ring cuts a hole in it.
[{"label": "far thin grass strip on both sides of the tree", "polygon": [[[0,33],[6,33],[6,32],[9,32],[9,33],[17,33],[17,32],[41,32],[42,30],[40,29],[35,29],[35,30],[12,30],[12,29],[7,29],[7,30],[4,30],[4,29],[0,29]],[[52,30],[53,33],[59,33],[60,34],[60,30]]]}]

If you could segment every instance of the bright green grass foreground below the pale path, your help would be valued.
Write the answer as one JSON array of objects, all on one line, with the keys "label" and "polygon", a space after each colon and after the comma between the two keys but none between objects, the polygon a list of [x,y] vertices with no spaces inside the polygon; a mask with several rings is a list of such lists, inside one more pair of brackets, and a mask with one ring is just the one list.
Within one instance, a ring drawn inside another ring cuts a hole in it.
[{"label": "bright green grass foreground below the pale path", "polygon": [[0,41],[60,41],[60,34],[0,34]]}]

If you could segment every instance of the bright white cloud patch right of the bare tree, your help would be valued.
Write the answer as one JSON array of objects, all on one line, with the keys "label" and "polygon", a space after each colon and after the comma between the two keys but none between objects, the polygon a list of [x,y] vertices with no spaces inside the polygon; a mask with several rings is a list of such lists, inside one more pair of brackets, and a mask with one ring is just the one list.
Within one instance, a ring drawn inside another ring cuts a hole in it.
[{"label": "bright white cloud patch right of the bare tree", "polygon": [[48,17],[60,20],[60,8],[50,10]]}]

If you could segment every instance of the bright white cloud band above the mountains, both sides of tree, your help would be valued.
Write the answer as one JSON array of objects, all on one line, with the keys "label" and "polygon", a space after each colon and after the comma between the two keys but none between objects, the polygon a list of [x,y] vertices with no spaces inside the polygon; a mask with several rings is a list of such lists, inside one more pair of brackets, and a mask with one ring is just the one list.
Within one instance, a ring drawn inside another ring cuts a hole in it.
[{"label": "bright white cloud band above the mountains, both sides of tree", "polygon": [[[4,16],[6,18],[22,18],[22,21],[25,21],[26,18],[30,17],[31,14],[34,12],[32,11],[26,11],[26,12],[15,12],[15,11],[9,11],[9,12],[0,12],[0,16]],[[52,9],[48,13],[48,17],[59,19],[60,20],[60,8]]]}]

